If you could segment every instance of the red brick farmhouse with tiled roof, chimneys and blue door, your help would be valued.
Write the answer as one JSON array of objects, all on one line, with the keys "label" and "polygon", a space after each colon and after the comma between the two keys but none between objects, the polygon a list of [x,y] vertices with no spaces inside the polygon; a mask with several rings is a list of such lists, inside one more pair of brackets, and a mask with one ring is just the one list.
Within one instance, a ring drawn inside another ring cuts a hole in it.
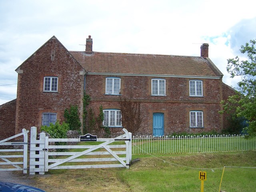
[{"label": "red brick farmhouse with tiled roof, chimneys and blue door", "polygon": [[84,94],[95,117],[102,106],[111,136],[122,128],[143,135],[220,132],[228,124],[218,113],[221,101],[234,90],[222,82],[208,46],[201,56],[94,52],[89,36],[85,51],[68,51],[53,36],[16,69],[17,98],[0,106],[0,140],[63,122],[70,105],[78,106],[83,130]]}]

